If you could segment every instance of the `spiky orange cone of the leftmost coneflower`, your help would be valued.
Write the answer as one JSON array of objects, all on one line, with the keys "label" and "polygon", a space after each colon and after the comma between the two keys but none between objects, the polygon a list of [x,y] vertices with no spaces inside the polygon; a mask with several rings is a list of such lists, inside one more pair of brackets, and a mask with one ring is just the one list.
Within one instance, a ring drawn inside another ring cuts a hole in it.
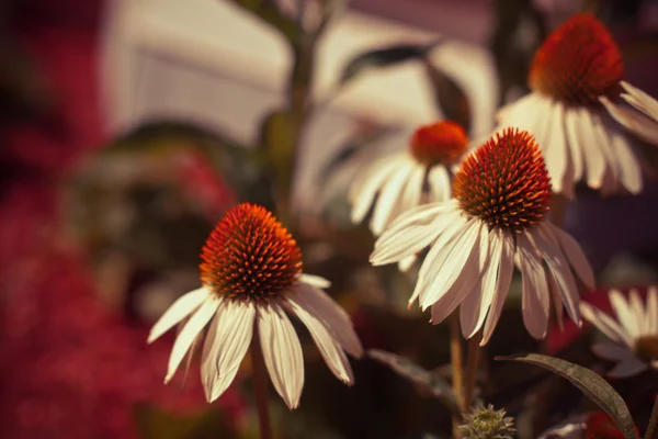
[{"label": "spiky orange cone of the leftmost coneflower", "polygon": [[201,258],[203,284],[229,299],[281,296],[302,272],[302,252],[292,235],[268,210],[249,203],[217,223]]}]

